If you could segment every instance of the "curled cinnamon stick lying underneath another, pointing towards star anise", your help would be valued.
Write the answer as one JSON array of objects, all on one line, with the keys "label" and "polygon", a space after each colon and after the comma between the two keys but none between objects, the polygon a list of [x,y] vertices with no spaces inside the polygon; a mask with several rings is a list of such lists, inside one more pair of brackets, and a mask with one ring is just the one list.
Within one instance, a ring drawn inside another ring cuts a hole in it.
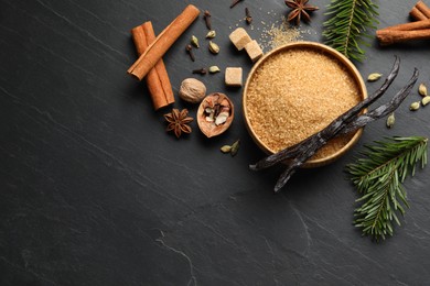
[{"label": "curled cinnamon stick lying underneath another, pointing towards star anise", "polygon": [[[146,22],[131,29],[131,36],[138,55],[143,54],[155,37],[151,22]],[[155,110],[174,102],[172,86],[162,59],[149,70],[146,79]]]}]

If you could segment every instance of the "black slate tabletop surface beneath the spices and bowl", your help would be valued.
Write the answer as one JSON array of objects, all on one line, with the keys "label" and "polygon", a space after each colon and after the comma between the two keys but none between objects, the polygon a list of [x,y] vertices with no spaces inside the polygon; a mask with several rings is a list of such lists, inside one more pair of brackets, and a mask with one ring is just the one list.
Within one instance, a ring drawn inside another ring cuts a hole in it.
[{"label": "black slate tabletop surface beneath the spices and bowl", "polygon": [[[327,0],[303,40],[323,42]],[[383,136],[430,135],[430,108],[409,111],[417,87],[397,111],[394,129],[378,121],[335,163],[298,172],[273,195],[281,172],[251,173],[264,156],[248,135],[241,89],[224,74],[206,75],[236,118],[223,135],[164,131],[148,90],[126,74],[136,61],[130,29],[151,20],[157,33],[189,1],[0,0],[0,285],[424,285],[430,282],[430,177],[418,169],[405,187],[410,208],[394,238],[362,238],[352,224],[356,190],[344,167],[363,145]],[[194,1],[213,14],[221,53],[184,51],[204,41],[200,18],[164,56],[174,91],[202,66],[251,67],[228,34],[254,15],[250,35],[287,13],[283,1]],[[379,28],[408,22],[415,1],[380,0]],[[417,42],[366,48],[357,68],[401,69],[388,99],[412,74],[430,86],[430,45]],[[379,84],[367,84],[370,91]],[[178,99],[178,98],[176,98]],[[318,100],[318,99],[315,99]],[[174,107],[196,107],[176,100]],[[235,157],[219,147],[240,139]]]}]

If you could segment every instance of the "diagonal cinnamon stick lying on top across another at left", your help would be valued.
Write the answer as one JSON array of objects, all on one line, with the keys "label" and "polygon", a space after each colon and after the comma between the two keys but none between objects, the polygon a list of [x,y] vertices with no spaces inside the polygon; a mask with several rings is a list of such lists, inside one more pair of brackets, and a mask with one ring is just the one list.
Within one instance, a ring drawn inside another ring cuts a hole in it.
[{"label": "diagonal cinnamon stick lying on top across another at left", "polygon": [[200,11],[195,6],[189,4],[182,13],[168,25],[155,41],[139,56],[138,61],[127,70],[139,80],[151,70],[181,34],[194,22]]}]

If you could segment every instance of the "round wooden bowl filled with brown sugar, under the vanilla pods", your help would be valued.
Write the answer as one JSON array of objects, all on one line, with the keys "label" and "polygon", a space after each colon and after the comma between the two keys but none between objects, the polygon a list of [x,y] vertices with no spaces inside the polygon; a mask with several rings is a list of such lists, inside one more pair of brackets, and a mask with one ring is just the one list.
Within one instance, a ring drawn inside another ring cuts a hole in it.
[{"label": "round wooden bowl filled with brown sugar, under the vanilla pods", "polygon": [[[256,144],[273,154],[324,129],[367,97],[355,66],[337,51],[297,42],[266,54],[244,88],[245,124]],[[332,139],[303,167],[326,165],[347,152],[363,129]]]}]

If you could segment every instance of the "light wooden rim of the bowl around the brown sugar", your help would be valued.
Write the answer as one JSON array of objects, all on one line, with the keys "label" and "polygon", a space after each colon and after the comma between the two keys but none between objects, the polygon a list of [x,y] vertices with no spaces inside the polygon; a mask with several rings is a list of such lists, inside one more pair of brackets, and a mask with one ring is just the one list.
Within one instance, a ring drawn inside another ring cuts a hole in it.
[{"label": "light wooden rim of the bowl around the brown sugar", "polygon": [[[243,100],[241,100],[241,106],[243,106],[243,114],[244,114],[244,120],[245,120],[245,125],[246,125],[246,129],[248,130],[248,133],[251,135],[254,142],[267,154],[273,154],[275,151],[270,150],[264,142],[261,142],[261,140],[255,134],[254,130],[252,130],[252,127],[249,122],[249,119],[248,119],[248,111],[246,109],[246,95],[247,95],[247,91],[248,91],[248,87],[249,87],[249,82],[254,76],[254,74],[256,73],[256,70],[262,65],[262,63],[265,63],[269,57],[272,57],[275,56],[276,54],[279,54],[279,53],[282,53],[283,51],[288,51],[288,50],[291,50],[291,48],[298,48],[298,47],[305,47],[305,48],[313,48],[315,51],[322,51],[324,52],[325,54],[329,54],[331,56],[333,56],[335,59],[340,61],[341,64],[343,64],[347,72],[351,74],[351,76],[353,77],[353,79],[355,80],[355,82],[357,84],[358,86],[358,89],[361,91],[361,97],[362,97],[362,100],[367,98],[367,89],[366,89],[366,85],[364,82],[364,79],[361,75],[361,73],[358,72],[358,69],[355,67],[355,65],[348,59],[346,58],[343,54],[341,54],[340,52],[337,52],[336,50],[327,46],[327,45],[324,45],[324,44],[321,44],[321,43],[318,43],[318,42],[309,42],[309,41],[300,41],[300,42],[294,42],[294,43],[288,43],[288,44],[284,44],[282,46],[279,46],[272,51],[270,51],[269,53],[265,54],[251,68],[251,70],[249,72],[248,76],[247,76],[247,79],[246,79],[246,82],[245,82],[245,87],[244,87],[244,91],[243,91]],[[366,110],[364,111],[366,112]],[[316,160],[308,160],[302,166],[303,167],[318,167],[318,166],[323,166],[323,165],[326,165],[329,163],[332,163],[334,162],[335,160],[337,160],[338,157],[341,157],[342,155],[344,155],[353,145],[355,145],[357,143],[357,141],[359,140],[359,138],[362,136],[363,134],[363,128],[357,130],[353,138],[340,150],[337,150],[336,152],[334,152],[333,154],[329,155],[329,156],[325,156],[325,157],[321,157],[321,158],[316,158]]]}]

